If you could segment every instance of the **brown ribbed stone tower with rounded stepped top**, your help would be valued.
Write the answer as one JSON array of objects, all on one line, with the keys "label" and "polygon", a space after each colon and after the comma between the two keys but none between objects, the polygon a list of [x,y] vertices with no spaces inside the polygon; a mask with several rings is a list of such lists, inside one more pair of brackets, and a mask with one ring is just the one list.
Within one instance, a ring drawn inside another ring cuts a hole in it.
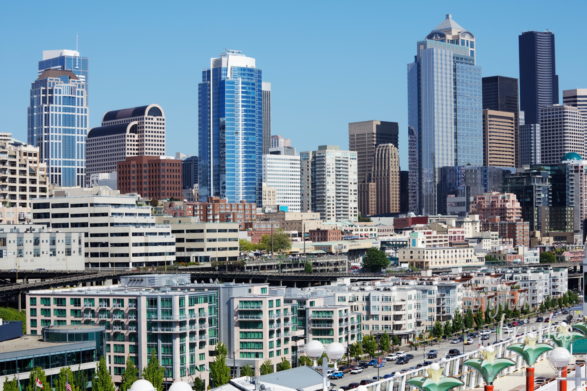
[{"label": "brown ribbed stone tower with rounded stepped top", "polygon": [[380,144],[373,154],[376,214],[400,211],[400,161],[394,144]]}]

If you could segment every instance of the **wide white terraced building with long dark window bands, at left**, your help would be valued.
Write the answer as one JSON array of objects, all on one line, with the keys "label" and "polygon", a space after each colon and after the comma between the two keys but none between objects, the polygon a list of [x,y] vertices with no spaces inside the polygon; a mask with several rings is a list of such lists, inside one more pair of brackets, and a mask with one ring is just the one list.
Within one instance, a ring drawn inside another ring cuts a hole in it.
[{"label": "wide white terraced building with long dark window bands, at left", "polygon": [[33,200],[32,209],[33,224],[84,233],[86,268],[163,266],[176,259],[170,225],[157,224],[136,197],[100,187],[68,188]]}]

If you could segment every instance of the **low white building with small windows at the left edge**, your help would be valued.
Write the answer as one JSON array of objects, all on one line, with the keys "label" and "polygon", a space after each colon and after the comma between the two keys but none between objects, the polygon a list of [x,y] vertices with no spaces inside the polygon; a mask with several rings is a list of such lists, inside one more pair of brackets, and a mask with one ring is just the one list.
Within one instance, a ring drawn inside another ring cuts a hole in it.
[{"label": "low white building with small windows at the left edge", "polygon": [[0,224],[0,269],[83,271],[86,241],[82,232],[48,225]]}]

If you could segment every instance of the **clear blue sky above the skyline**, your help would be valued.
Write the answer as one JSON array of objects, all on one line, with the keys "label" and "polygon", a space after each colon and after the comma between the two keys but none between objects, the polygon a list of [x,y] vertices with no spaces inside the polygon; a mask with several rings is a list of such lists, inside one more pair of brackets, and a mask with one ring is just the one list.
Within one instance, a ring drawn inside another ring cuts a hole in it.
[{"label": "clear blue sky above the skyline", "polygon": [[0,15],[1,132],[26,140],[42,50],[90,58],[90,126],[107,110],[158,103],[167,154],[198,153],[201,69],[225,48],[257,59],[272,83],[272,133],[298,151],[348,147],[348,123],[399,122],[407,169],[406,64],[445,14],[477,39],[484,76],[518,77],[518,35],[550,29],[562,90],[587,87],[587,3],[484,1],[6,2]]}]

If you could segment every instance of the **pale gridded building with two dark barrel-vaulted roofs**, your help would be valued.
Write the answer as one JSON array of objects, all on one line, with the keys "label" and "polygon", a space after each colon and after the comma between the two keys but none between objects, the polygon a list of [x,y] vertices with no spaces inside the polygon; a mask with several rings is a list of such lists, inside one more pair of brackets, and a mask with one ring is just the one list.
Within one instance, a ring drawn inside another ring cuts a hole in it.
[{"label": "pale gridded building with two dark barrel-vaulted roofs", "polygon": [[165,113],[159,105],[104,114],[102,126],[87,134],[87,180],[90,174],[116,171],[116,163],[127,156],[164,155],[165,127]]}]

